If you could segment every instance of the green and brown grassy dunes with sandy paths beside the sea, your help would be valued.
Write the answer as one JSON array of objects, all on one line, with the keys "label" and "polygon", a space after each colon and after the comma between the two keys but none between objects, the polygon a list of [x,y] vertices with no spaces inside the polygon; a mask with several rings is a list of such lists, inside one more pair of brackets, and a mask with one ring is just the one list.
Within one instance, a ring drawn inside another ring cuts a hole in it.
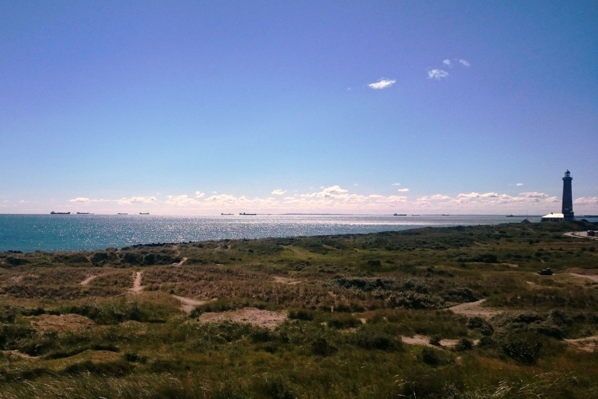
[{"label": "green and brown grassy dunes with sandy paths beside the sea", "polygon": [[5,252],[0,398],[596,398],[588,229]]}]

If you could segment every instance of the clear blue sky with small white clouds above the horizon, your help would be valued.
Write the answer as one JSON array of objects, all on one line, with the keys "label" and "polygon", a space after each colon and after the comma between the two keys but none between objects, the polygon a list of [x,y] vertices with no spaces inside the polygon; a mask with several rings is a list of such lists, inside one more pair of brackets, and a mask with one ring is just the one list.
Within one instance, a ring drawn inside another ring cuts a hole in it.
[{"label": "clear blue sky with small white clouds above the horizon", "polygon": [[0,0],[0,214],[598,214],[596,1]]}]

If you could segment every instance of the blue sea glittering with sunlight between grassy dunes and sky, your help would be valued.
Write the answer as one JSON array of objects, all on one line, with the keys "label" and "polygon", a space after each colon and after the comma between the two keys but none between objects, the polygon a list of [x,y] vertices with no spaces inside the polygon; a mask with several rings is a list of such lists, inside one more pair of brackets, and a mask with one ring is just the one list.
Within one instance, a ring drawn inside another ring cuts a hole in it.
[{"label": "blue sea glittering with sunlight between grassy dunes and sky", "polygon": [[157,242],[373,233],[523,219],[499,215],[0,215],[0,251],[77,251]]}]

